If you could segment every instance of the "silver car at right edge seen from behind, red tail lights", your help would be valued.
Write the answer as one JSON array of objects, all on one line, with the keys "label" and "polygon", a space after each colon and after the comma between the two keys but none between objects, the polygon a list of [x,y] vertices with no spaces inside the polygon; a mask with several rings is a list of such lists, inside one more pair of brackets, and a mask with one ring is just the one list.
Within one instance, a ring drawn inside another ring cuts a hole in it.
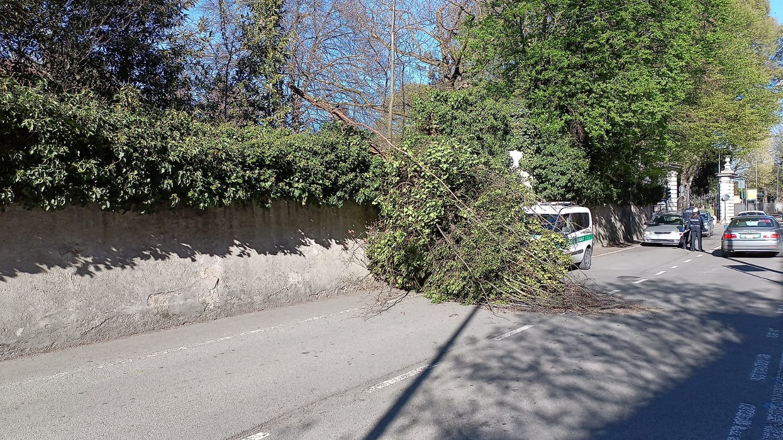
[{"label": "silver car at right edge seen from behind, red tail lights", "polygon": [[769,215],[734,218],[723,231],[720,249],[724,257],[734,252],[766,252],[783,256],[783,226]]}]

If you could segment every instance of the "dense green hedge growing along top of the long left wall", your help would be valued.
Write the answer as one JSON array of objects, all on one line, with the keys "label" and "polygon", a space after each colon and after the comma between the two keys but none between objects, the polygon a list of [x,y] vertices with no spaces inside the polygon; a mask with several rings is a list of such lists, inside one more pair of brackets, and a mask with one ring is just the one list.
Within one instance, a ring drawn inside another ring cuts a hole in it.
[{"label": "dense green hedge growing along top of the long left wall", "polygon": [[0,139],[0,206],[150,211],[373,197],[365,135],[212,126],[144,106],[133,89],[107,103],[2,79]]}]

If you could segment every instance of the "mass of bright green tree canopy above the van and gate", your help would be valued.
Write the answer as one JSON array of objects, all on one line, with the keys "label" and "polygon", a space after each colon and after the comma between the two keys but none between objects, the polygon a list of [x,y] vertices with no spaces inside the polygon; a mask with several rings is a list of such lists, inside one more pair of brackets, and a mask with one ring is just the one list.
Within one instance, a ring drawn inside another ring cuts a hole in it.
[{"label": "mass of bright green tree canopy above the van and gate", "polygon": [[[766,5],[766,9],[760,5]],[[493,0],[467,23],[472,78],[519,99],[544,197],[612,203],[768,133],[779,31],[766,2]]]}]

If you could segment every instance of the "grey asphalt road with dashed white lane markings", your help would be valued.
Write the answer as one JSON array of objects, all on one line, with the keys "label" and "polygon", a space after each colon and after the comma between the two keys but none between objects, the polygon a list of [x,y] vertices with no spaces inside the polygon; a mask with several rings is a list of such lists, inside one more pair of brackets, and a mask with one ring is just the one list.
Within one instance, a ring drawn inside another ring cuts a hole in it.
[{"label": "grey asphalt road with dashed white lane markings", "polygon": [[366,295],[0,362],[0,438],[783,438],[781,263],[630,247],[575,275],[651,312]]}]

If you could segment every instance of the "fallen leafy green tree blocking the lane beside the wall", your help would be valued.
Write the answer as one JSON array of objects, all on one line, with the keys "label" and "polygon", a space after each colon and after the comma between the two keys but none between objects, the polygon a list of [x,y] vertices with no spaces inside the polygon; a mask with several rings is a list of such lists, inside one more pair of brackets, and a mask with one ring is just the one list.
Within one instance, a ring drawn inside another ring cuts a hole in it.
[{"label": "fallen leafy green tree blocking the lane beside the wall", "polygon": [[503,148],[514,124],[475,93],[417,101],[406,142],[379,173],[370,269],[433,301],[552,305],[571,261],[567,243],[525,213],[536,198]]}]

